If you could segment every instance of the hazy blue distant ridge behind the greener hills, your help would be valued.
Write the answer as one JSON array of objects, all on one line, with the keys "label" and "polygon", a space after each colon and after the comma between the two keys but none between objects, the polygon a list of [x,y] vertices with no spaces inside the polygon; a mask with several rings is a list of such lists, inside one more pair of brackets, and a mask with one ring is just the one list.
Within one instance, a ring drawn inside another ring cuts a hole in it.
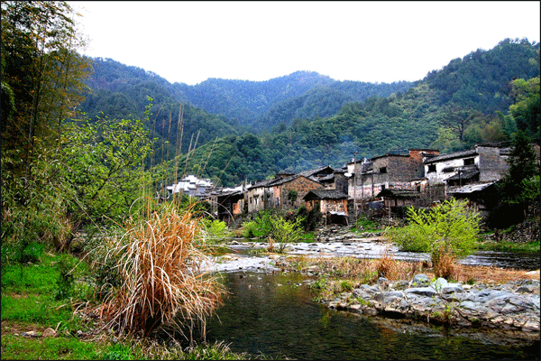
[{"label": "hazy blue distant ridge behind the greener hills", "polygon": [[[341,82],[314,71],[297,71],[265,81],[206,79],[189,86],[170,84],[155,73],[115,60],[95,58],[92,61],[94,72],[87,84],[94,90],[94,96],[81,105],[91,116],[98,111],[112,115],[115,108],[123,116],[142,112],[146,95],[149,95],[155,104],[166,99],[188,103],[256,132],[271,130],[280,122],[289,125],[295,118],[313,120],[333,116],[349,101],[387,97],[413,85],[404,81],[392,84]],[[111,96],[115,96],[112,101],[96,101],[96,98]]]}]

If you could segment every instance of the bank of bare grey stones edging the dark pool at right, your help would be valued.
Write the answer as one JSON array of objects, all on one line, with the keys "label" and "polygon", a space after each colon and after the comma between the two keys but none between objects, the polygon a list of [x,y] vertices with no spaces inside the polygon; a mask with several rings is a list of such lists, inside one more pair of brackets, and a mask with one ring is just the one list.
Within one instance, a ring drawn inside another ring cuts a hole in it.
[{"label": "bank of bare grey stones edging the dark pool at right", "polygon": [[362,284],[344,292],[328,307],[358,314],[425,319],[458,327],[509,329],[539,336],[539,281],[518,280],[488,287],[485,284],[451,283],[426,274],[410,281]]}]

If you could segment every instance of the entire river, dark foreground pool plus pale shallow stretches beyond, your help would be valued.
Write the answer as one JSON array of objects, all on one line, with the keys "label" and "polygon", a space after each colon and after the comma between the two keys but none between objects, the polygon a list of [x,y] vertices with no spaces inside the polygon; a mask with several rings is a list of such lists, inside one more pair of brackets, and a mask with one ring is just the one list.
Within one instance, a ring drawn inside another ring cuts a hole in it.
[{"label": "entire river, dark foreground pool plus pale shallow stretches beyond", "polygon": [[[281,273],[273,255],[252,255],[267,244],[236,240],[232,254],[209,270],[221,274],[230,292],[206,326],[208,342],[225,341],[234,352],[300,359],[539,359],[539,344],[520,332],[453,329],[408,319],[360,316],[330,310],[298,273]],[[288,255],[378,258],[390,245],[374,241],[289,245]],[[422,261],[427,254],[399,251],[395,259]],[[539,269],[538,255],[478,252],[463,264]]]}]

